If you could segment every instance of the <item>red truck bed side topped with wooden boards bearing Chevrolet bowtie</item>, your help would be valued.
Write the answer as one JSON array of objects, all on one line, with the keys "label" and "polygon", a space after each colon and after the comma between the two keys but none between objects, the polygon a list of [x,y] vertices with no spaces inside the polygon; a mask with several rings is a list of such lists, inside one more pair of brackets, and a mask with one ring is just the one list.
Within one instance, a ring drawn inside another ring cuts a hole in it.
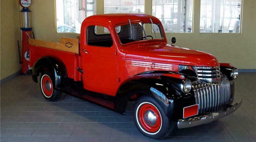
[{"label": "red truck bed side topped with wooden boards bearing Chevrolet bowtie", "polygon": [[[81,68],[78,39],[61,38],[60,43],[34,39],[29,39],[28,41],[30,67],[33,67],[38,59],[50,56],[60,59],[65,64],[68,78],[81,81],[81,73],[77,70],[78,67]],[[72,47],[70,47],[71,44],[73,44]]]}]

